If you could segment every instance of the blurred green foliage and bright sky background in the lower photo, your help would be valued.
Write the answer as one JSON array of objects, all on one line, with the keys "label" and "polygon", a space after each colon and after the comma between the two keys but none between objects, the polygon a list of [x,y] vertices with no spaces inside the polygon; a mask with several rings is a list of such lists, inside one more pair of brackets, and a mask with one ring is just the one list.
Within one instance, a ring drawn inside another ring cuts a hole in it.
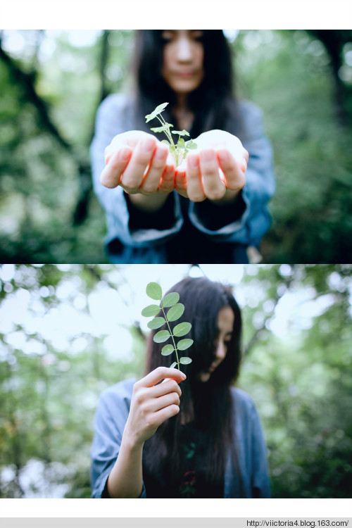
[{"label": "blurred green foliage and bright sky background in the lower photo", "polygon": [[[118,300],[137,293],[129,269],[0,268],[1,497],[89,496],[98,395],[144,370],[137,302],[123,310],[132,309],[130,345],[107,341],[126,327]],[[246,265],[234,286],[244,316],[239,386],[263,422],[275,498],[351,498],[351,272],[352,265]],[[107,293],[115,295],[110,330],[96,325],[93,302],[106,303]]]}]

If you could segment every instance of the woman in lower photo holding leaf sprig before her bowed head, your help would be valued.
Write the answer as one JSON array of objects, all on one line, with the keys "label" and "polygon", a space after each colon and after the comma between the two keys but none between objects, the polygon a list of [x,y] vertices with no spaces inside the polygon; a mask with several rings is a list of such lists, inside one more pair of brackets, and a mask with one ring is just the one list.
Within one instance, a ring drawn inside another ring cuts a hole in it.
[{"label": "woman in lower photo holding leaf sprig before her bowed head", "polygon": [[260,421],[251,398],[231,386],[241,358],[239,306],[230,289],[206,278],[184,279],[170,291],[185,306],[172,324],[192,325],[192,362],[184,373],[168,368],[163,344],[150,339],[147,374],[101,394],[92,496],[268,497]]}]

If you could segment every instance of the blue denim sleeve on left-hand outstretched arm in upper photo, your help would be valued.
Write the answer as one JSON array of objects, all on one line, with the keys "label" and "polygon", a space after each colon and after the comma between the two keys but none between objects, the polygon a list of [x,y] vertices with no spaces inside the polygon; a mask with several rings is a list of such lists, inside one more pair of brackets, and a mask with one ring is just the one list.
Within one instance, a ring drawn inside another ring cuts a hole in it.
[{"label": "blue denim sleeve on left-hand outstretched arm in upper photo", "polygon": [[168,239],[180,231],[183,218],[180,201],[174,193],[173,212],[175,223],[166,230],[140,229],[131,231],[129,220],[130,213],[125,200],[122,187],[114,189],[104,187],[100,182],[101,171],[105,167],[104,150],[115,135],[133,130],[131,118],[132,107],[126,107],[125,96],[115,94],[108,96],[99,106],[96,113],[94,139],[90,148],[92,161],[93,187],[103,209],[106,213],[108,237],[106,243],[113,239],[120,239],[122,244],[134,248],[144,248],[150,244],[159,244],[163,239]]}]

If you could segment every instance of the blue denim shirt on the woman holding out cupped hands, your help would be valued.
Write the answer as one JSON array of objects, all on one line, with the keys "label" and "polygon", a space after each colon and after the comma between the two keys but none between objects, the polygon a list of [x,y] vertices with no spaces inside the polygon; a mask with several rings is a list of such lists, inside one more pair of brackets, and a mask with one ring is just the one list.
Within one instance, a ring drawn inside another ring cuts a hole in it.
[{"label": "blue denim shirt on the woman holding out cupped hands", "polygon": [[[210,263],[216,251],[214,244],[232,244],[236,246],[258,246],[263,234],[270,227],[268,201],[275,191],[275,177],[272,162],[272,148],[263,130],[262,113],[248,101],[239,102],[239,116],[244,123],[246,138],[239,138],[249,151],[249,164],[246,170],[246,184],[241,191],[243,212],[240,218],[219,229],[212,230],[204,225],[197,214],[199,204],[189,201],[187,216],[191,225],[201,234],[201,240],[209,241],[208,256],[204,262]],[[92,175],[94,191],[106,213],[108,234],[106,250],[114,263],[168,263],[165,244],[182,230],[184,213],[180,205],[180,196],[173,191],[173,223],[166,229],[130,229],[130,212],[122,187],[108,189],[100,183],[103,170],[104,149],[115,135],[134,130],[134,109],[132,99],[123,94],[108,96],[99,106],[96,115],[94,139],[91,145]],[[112,241],[118,241],[114,253],[109,248]],[[199,244],[195,237],[194,244]],[[204,242],[203,242],[204,243]],[[239,257],[234,254],[230,262],[243,263],[243,252]],[[189,261],[185,259],[184,261]]]}]

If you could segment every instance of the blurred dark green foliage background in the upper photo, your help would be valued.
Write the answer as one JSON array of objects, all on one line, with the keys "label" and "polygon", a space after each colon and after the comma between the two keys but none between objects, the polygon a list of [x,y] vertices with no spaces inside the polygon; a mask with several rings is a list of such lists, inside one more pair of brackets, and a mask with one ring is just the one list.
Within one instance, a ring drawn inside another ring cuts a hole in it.
[{"label": "blurred dark green foliage background in the upper photo", "polygon": [[[89,143],[101,99],[132,87],[133,36],[0,33],[2,262],[106,261]],[[263,109],[275,152],[264,261],[351,262],[352,32],[244,30],[232,46],[237,93]]]}]

